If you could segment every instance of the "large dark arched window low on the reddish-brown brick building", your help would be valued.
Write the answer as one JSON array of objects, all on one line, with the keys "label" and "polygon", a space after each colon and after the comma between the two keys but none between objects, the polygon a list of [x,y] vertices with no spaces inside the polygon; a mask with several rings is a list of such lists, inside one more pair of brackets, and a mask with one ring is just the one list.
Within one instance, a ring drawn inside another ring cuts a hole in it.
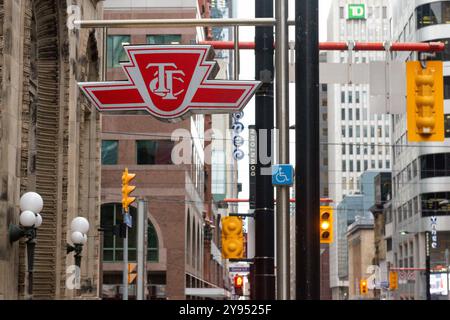
[{"label": "large dark arched window low on the reddish-brown brick building", "polygon": [[[133,221],[136,221],[137,210],[130,207],[130,214]],[[103,235],[103,260],[105,262],[123,261],[123,239],[114,235],[111,230],[114,226],[122,222],[122,205],[118,203],[108,203],[101,206],[100,225],[106,231]],[[158,236],[153,224],[148,220],[147,227],[147,261],[158,262]],[[136,228],[128,229],[128,259],[136,261]]]}]

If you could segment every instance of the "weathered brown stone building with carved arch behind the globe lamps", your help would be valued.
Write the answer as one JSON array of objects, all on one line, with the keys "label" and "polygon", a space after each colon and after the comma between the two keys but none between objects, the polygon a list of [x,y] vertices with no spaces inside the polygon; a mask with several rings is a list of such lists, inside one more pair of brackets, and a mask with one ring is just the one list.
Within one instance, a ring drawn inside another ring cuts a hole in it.
[{"label": "weathered brown stone building with carved arch behind the globe lamps", "polygon": [[[0,1],[0,299],[31,298],[24,241],[8,237],[27,191],[44,201],[32,298],[99,296],[100,116],[77,81],[100,79],[102,37],[68,25],[68,12],[101,19],[102,1]],[[76,216],[90,222],[78,292],[66,282]]]}]

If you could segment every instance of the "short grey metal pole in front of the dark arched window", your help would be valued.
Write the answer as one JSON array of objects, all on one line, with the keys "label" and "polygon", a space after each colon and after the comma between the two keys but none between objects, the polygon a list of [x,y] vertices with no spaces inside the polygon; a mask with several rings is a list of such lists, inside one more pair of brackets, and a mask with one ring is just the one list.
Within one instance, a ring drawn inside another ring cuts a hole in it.
[{"label": "short grey metal pole in front of the dark arched window", "polygon": [[144,300],[145,277],[145,202],[138,201],[137,217],[137,300]]}]

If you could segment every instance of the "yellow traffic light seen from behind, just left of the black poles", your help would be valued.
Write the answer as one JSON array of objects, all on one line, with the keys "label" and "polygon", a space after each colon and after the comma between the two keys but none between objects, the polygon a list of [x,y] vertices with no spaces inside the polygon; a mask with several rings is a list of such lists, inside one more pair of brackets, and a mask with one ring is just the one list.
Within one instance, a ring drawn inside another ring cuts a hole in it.
[{"label": "yellow traffic light seen from behind, just left of the black poles", "polygon": [[244,234],[242,229],[241,218],[222,218],[222,257],[224,259],[242,259],[244,257]]}]

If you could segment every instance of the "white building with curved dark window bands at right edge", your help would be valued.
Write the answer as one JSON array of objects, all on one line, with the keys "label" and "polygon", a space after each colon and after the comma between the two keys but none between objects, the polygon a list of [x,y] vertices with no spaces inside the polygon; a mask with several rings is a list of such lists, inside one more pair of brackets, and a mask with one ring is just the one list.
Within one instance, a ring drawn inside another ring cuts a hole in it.
[{"label": "white building with curved dark window bands at right edge", "polygon": [[[450,1],[391,1],[392,40],[400,42],[443,41],[448,44]],[[393,119],[393,197],[392,218],[386,221],[386,241],[392,243],[388,260],[393,268],[414,268],[414,272],[400,272],[400,286],[396,299],[426,299],[425,233],[431,231],[430,216],[437,216],[437,247],[431,249],[431,281],[445,271],[445,250],[450,247],[450,217],[448,206],[434,211],[433,204],[450,198],[450,51],[438,53],[444,61],[445,142],[409,143],[406,114]],[[418,60],[415,52],[399,52],[399,61]],[[404,235],[402,236],[401,233]],[[433,290],[433,299],[448,299],[446,290]],[[436,293],[436,294],[434,294]]]}]

